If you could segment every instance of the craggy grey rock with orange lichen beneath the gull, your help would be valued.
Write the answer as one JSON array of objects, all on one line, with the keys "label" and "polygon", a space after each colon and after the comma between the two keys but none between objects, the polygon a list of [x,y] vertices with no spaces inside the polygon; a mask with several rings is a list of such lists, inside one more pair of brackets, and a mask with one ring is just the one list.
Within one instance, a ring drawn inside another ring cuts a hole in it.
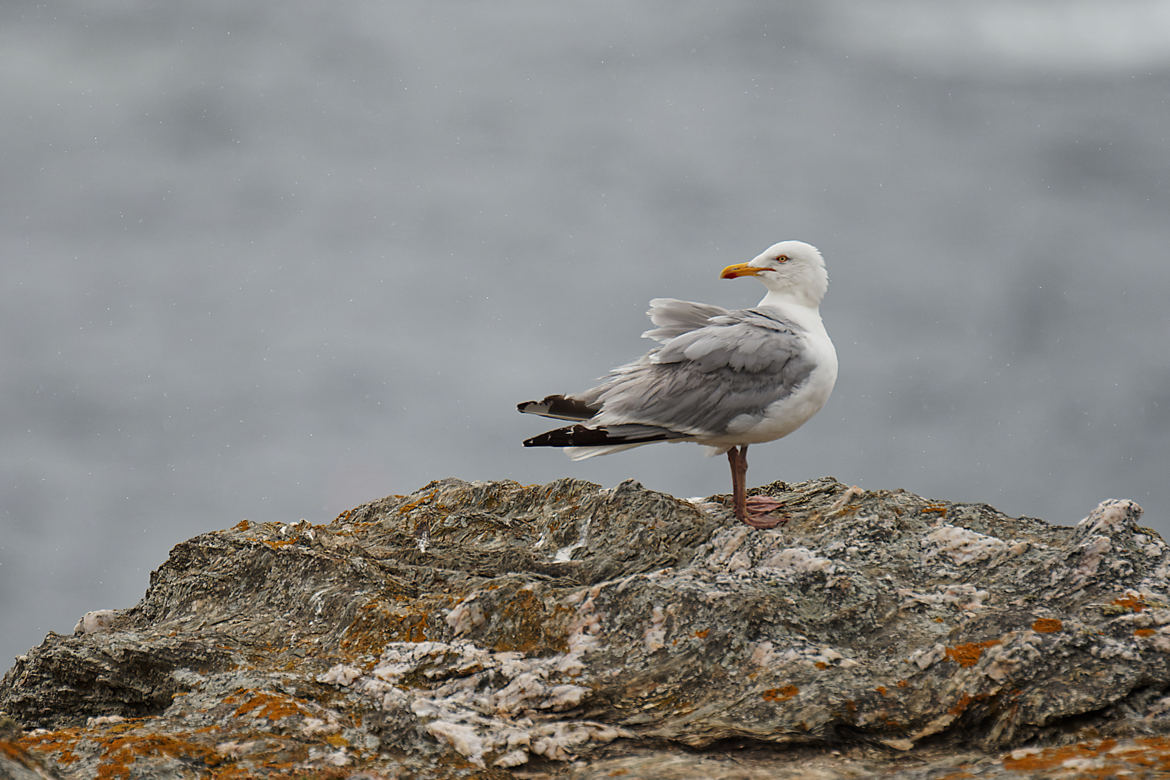
[{"label": "craggy grey rock with orange lichen beneath the gull", "polygon": [[760,492],[786,525],[443,479],[195,537],[137,606],[16,660],[0,776],[1170,771],[1170,548],[1136,504],[1062,527]]}]

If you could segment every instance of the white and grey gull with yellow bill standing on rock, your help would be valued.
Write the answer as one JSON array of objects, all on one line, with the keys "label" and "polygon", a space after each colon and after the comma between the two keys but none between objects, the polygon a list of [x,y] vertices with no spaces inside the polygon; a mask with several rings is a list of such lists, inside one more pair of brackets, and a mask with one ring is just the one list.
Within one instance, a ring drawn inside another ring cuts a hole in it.
[{"label": "white and grey gull with yellow bill standing on rock", "polygon": [[768,289],[753,309],[654,298],[647,316],[658,341],[601,384],[516,406],[524,414],[572,421],[524,442],[563,447],[573,460],[653,442],[695,442],[727,454],[735,516],[756,529],[787,518],[780,502],[746,497],[748,446],[775,441],[825,406],[837,382],[837,351],[820,318],[828,289],[825,260],[803,241],[772,244],[720,275],[753,276]]}]

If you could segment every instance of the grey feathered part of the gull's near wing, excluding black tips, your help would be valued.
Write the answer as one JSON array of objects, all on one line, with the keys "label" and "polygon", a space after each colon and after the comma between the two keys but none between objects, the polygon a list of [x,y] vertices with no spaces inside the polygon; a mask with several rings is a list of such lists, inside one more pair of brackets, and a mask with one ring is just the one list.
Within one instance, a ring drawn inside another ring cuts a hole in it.
[{"label": "grey feathered part of the gull's near wing, excluding black tips", "polygon": [[738,427],[763,417],[813,368],[803,331],[748,309],[717,315],[667,340],[581,396],[601,407],[593,419],[598,424],[636,422],[718,435],[729,433],[734,420],[739,419]]}]

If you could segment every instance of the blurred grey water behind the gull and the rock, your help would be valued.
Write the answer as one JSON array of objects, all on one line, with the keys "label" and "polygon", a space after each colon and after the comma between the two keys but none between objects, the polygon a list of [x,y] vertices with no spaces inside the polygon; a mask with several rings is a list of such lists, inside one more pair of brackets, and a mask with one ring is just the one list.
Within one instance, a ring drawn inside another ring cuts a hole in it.
[{"label": "blurred grey water behind the gull and the rock", "polygon": [[514,405],[780,239],[841,372],[750,484],[1170,532],[1168,2],[8,0],[0,68],[0,667],[241,518],[728,491]]}]

